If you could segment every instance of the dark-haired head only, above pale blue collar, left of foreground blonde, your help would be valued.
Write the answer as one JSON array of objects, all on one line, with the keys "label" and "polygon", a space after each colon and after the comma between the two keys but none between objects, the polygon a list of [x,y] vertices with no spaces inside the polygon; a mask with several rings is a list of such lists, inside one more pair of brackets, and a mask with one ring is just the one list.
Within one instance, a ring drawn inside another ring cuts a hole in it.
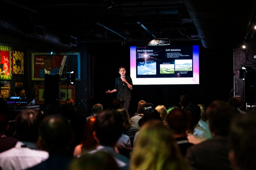
[{"label": "dark-haired head only, above pale blue collar, left of foreground blonde", "polygon": [[103,146],[115,147],[122,134],[123,118],[112,110],[103,111],[95,122],[94,139]]}]

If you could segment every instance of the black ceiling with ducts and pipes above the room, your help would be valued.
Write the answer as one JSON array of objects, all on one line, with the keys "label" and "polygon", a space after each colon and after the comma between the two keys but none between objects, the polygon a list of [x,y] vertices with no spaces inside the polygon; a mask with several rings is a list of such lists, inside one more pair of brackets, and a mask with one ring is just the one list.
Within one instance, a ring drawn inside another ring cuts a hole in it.
[{"label": "black ceiling with ducts and pipes above the room", "polygon": [[44,44],[69,50],[74,44],[70,44],[70,36],[78,43],[124,39],[146,43],[152,33],[171,41],[201,41],[208,49],[223,48],[223,43],[239,48],[252,34],[255,7],[255,0],[233,4],[220,0],[3,0],[0,43]]}]

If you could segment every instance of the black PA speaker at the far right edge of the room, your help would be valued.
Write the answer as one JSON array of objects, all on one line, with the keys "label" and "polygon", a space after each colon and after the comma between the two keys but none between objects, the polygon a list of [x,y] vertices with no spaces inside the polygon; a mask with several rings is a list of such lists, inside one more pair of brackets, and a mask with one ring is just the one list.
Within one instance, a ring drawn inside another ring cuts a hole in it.
[{"label": "black PA speaker at the far right edge of the room", "polygon": [[256,103],[256,72],[244,72],[245,103]]}]

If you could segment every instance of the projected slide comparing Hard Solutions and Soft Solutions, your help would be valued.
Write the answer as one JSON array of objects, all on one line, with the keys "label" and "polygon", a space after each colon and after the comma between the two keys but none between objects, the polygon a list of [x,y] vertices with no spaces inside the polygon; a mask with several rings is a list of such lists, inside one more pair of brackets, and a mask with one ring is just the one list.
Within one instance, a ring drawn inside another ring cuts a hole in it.
[{"label": "projected slide comparing Hard Solutions and Soft Solutions", "polygon": [[199,45],[131,46],[134,85],[199,84]]}]

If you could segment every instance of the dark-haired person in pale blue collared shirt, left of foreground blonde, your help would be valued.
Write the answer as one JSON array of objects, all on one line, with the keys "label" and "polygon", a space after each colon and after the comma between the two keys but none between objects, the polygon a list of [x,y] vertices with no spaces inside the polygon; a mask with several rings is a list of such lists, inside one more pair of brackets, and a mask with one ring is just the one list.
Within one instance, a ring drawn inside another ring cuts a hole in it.
[{"label": "dark-haired person in pale blue collared shirt, left of foreground blonde", "polygon": [[107,151],[115,158],[121,169],[128,170],[130,164],[129,159],[115,151],[116,142],[122,134],[122,127],[120,116],[114,114],[112,110],[103,111],[96,119],[95,131],[93,132],[94,139],[99,146],[96,150],[91,151],[90,153]]}]

